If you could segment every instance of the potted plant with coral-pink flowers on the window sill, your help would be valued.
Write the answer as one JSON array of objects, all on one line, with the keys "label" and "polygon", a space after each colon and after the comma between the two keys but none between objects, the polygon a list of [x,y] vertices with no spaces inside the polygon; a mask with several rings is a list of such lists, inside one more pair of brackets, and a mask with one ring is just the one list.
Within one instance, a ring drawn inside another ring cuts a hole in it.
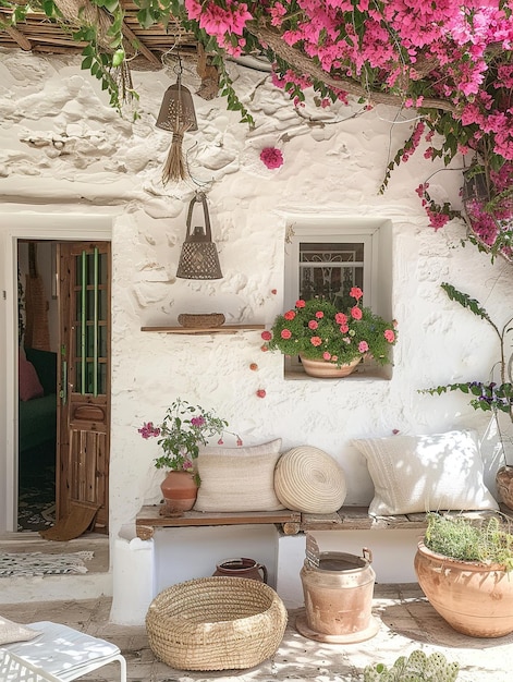
[{"label": "potted plant with coral-pink flowers on the window sill", "polygon": [[343,377],[364,357],[378,365],[390,363],[390,348],[396,342],[395,321],[388,322],[362,305],[363,292],[353,287],[354,303],[339,310],[321,297],[296,301],[295,307],[279,315],[270,331],[262,332],[265,350],[298,355],[306,374]]}]

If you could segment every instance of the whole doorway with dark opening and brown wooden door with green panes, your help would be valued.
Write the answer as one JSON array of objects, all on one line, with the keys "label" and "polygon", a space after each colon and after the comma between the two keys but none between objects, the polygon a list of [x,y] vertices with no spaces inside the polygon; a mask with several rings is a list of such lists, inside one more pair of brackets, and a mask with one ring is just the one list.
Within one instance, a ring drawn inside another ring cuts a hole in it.
[{"label": "whole doorway with dark opening and brown wooden door with green panes", "polygon": [[110,243],[21,239],[17,271],[17,529],[108,533]]}]

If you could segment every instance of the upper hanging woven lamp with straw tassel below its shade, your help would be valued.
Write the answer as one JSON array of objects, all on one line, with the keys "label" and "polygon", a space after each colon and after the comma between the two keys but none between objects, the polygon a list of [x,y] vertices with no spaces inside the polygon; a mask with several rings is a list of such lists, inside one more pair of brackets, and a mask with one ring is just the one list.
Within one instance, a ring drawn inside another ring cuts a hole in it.
[{"label": "upper hanging woven lamp with straw tassel below its shade", "polygon": [[180,57],[176,83],[168,87],[164,93],[157,119],[157,127],[173,133],[171,148],[162,170],[162,184],[166,185],[169,180],[185,180],[187,168],[182,151],[183,136],[187,131],[197,131],[198,124],[193,97],[190,90],[182,85],[182,61]]}]

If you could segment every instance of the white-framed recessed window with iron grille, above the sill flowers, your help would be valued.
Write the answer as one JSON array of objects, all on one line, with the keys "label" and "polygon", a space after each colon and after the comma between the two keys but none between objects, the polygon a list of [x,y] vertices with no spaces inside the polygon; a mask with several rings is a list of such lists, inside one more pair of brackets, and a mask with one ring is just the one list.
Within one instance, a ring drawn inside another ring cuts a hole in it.
[{"label": "white-framed recessed window with iron grille, above the sill flowers", "polygon": [[[289,220],[284,309],[294,307],[297,299],[314,296],[345,309],[353,303],[351,288],[359,287],[363,304],[391,319],[391,241],[389,220],[322,216]],[[300,360],[290,358],[288,368],[301,369]],[[389,376],[389,372],[378,374]]]}]

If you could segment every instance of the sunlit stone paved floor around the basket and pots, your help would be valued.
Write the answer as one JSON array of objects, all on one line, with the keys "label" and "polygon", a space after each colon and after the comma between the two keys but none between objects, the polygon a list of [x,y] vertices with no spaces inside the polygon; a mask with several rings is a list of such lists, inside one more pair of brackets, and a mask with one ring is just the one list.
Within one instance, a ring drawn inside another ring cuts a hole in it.
[{"label": "sunlit stone paved floor around the basket and pots", "polygon": [[[1,598],[1,593],[0,593]],[[108,597],[84,601],[0,604],[0,613],[17,622],[51,620],[115,642],[126,657],[131,682],[358,682],[368,663],[392,665],[415,649],[441,651],[461,666],[457,682],[511,682],[513,634],[497,640],[474,638],[453,631],[424,598],[417,585],[376,585],[374,614],[378,634],[361,644],[328,645],[302,636],[295,629],[300,611],[291,611],[282,644],[272,660],[243,671],[185,672],[156,660],[144,628],[109,623]],[[111,663],[88,682],[119,681]]]}]

